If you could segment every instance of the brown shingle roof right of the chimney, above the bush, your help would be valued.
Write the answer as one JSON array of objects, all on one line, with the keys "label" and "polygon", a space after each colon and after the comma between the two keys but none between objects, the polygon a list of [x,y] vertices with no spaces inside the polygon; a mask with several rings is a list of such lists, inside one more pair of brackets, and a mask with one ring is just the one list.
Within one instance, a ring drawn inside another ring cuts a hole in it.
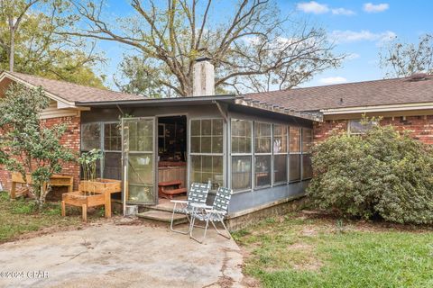
[{"label": "brown shingle roof right of the chimney, above the bush", "polygon": [[298,111],[433,102],[433,76],[425,80],[394,78],[357,83],[244,94],[247,99]]}]

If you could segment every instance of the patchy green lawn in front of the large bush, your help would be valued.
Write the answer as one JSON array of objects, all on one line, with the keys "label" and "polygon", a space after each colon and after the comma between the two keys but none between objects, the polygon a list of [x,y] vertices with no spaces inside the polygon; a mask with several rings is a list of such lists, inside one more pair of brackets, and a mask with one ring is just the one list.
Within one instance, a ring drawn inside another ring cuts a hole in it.
[{"label": "patchy green lawn in front of the large bush", "polygon": [[433,287],[433,233],[291,214],[237,231],[263,287]]}]

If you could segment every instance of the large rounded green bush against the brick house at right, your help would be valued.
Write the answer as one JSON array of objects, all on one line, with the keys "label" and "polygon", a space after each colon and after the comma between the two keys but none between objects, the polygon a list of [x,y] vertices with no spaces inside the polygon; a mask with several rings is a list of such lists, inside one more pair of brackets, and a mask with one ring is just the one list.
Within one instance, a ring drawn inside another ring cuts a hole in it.
[{"label": "large rounded green bush against the brick house at right", "polygon": [[346,216],[433,223],[433,150],[392,126],[337,134],[313,148],[313,203]]}]

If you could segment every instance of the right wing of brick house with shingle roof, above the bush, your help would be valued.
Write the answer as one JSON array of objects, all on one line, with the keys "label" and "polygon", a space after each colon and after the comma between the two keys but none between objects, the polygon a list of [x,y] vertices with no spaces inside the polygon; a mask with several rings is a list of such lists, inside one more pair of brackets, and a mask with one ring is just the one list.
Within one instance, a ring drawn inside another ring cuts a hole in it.
[{"label": "right wing of brick house with shingle roof, above the bush", "polygon": [[333,130],[360,133],[359,120],[382,117],[382,124],[410,130],[414,139],[433,144],[433,76],[416,75],[339,85],[323,85],[247,94],[257,101],[285,105],[302,112],[318,112],[323,121],[313,124],[314,141]]}]

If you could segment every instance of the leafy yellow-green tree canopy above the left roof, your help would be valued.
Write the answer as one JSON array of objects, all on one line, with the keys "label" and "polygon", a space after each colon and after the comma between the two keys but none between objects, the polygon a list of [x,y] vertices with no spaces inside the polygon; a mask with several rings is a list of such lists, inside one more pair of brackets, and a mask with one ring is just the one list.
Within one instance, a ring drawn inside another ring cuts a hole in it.
[{"label": "leafy yellow-green tree canopy above the left roof", "polygon": [[105,76],[93,69],[104,61],[95,53],[95,43],[58,33],[77,20],[67,1],[2,1],[0,68],[9,70],[13,57],[16,72],[104,87]]}]

